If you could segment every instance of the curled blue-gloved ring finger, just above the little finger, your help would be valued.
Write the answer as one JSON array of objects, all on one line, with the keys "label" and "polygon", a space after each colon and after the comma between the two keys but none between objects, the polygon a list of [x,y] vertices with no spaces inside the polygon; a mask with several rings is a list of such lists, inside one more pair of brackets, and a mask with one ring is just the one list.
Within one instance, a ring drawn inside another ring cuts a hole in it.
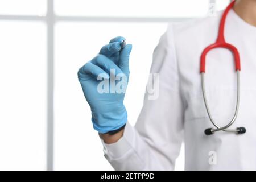
[{"label": "curled blue-gloved ring finger, just above the little finger", "polygon": [[123,73],[120,68],[108,57],[104,55],[98,55],[92,60],[93,64],[96,64],[98,67],[101,67],[104,69],[107,73],[113,73],[111,69],[114,69],[114,75],[117,75],[119,73]]}]

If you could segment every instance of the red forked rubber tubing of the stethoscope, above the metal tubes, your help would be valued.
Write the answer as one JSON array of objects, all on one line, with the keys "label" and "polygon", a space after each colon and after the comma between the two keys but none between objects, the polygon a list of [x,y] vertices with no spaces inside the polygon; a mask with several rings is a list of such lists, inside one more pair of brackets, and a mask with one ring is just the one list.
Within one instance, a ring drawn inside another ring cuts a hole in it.
[{"label": "red forked rubber tubing of the stethoscope, above the metal tubes", "polygon": [[236,65],[236,71],[241,70],[241,65],[240,65],[240,55],[236,47],[234,47],[232,44],[226,43],[225,37],[224,37],[224,28],[225,28],[225,21],[226,21],[226,15],[229,13],[229,10],[232,9],[234,6],[235,1],[232,1],[232,3],[229,4],[228,7],[226,7],[226,10],[224,11],[221,22],[220,22],[220,27],[218,30],[218,38],[215,43],[210,44],[208,47],[204,49],[204,51],[201,54],[200,58],[200,73],[205,73],[205,57],[209,51],[211,51],[214,48],[226,48],[229,49],[233,55],[234,55],[234,62]]}]

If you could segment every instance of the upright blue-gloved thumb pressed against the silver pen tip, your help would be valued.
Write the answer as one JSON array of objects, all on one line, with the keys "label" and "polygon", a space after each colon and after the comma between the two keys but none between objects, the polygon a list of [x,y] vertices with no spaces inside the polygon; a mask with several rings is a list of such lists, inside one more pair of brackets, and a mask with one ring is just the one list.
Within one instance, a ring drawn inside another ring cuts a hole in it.
[{"label": "upright blue-gloved thumb pressed against the silver pen tip", "polygon": [[131,44],[127,44],[119,54],[119,68],[123,71],[123,73],[129,73],[129,57],[131,53],[131,49],[133,46]]}]

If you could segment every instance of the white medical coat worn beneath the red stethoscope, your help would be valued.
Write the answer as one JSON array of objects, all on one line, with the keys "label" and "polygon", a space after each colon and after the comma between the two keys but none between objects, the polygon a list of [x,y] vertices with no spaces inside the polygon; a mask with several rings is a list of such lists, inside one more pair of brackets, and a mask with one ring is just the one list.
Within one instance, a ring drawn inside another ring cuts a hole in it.
[{"label": "white medical coat worn beneath the red stethoscope", "polygon": [[[256,27],[233,10],[226,19],[225,38],[240,51],[241,102],[232,128],[243,126],[247,131],[204,134],[213,125],[201,91],[200,55],[216,41],[221,15],[168,26],[151,67],[151,73],[159,73],[158,99],[148,100],[146,94],[135,127],[128,122],[118,142],[103,143],[114,169],[172,170],[183,141],[187,170],[256,169]],[[209,107],[216,122],[224,126],[236,106],[232,53],[226,49],[209,52],[205,69]]]}]

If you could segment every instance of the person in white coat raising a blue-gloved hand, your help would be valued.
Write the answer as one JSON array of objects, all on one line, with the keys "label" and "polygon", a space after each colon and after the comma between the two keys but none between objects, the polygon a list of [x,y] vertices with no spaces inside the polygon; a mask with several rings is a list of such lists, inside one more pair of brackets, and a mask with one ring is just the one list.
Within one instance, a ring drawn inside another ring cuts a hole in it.
[{"label": "person in white coat raising a blue-gloved hand", "polygon": [[[240,52],[241,86],[239,111],[230,129],[243,126],[246,133],[204,133],[216,127],[205,107],[200,56],[216,42],[223,11],[168,26],[155,48],[151,67],[151,73],[159,73],[159,97],[150,100],[145,94],[135,127],[127,121],[125,92],[98,92],[102,80],[113,82],[114,77],[114,84],[128,82],[131,44],[122,48],[124,38],[114,38],[79,69],[93,127],[114,169],[172,170],[184,141],[187,170],[256,170],[256,0],[237,0],[232,7],[225,19],[224,36]],[[225,126],[237,103],[234,56],[228,49],[217,48],[205,61],[210,114],[217,125]]]}]

